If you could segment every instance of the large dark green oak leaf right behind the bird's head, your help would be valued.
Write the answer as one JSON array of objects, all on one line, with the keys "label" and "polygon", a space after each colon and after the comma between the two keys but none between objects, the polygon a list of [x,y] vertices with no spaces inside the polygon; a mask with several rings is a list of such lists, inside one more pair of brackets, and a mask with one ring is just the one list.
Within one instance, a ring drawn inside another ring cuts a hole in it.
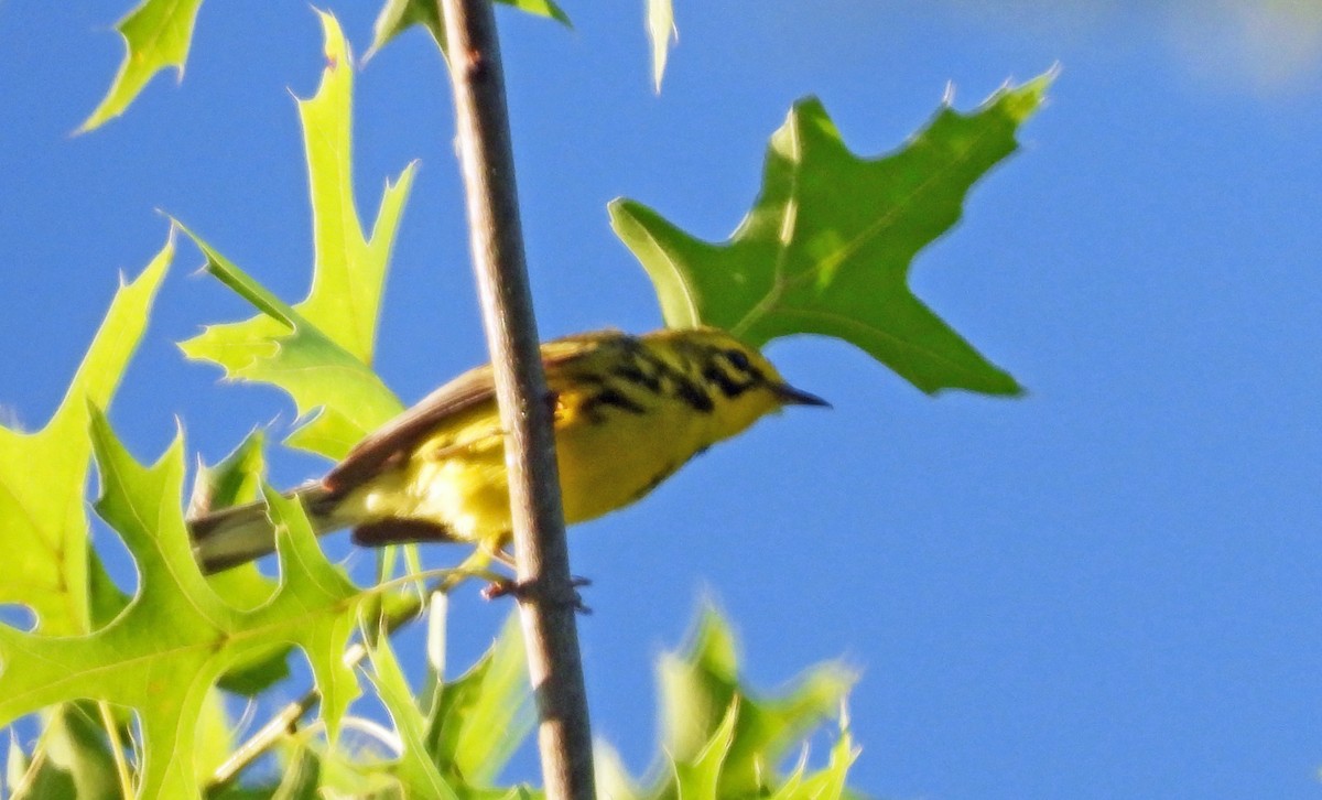
[{"label": "large dark green oak leaf right behind the bird's head", "polygon": [[822,104],[801,100],[772,135],[761,193],[728,241],[697,239],[631,200],[611,204],[611,222],[670,327],[717,325],[759,346],[821,333],[929,394],[1019,394],[914,295],[908,270],[958,221],[970,186],[1015,151],[1015,131],[1054,77],[1002,89],[972,114],[944,107],[878,159],[849,152]]}]

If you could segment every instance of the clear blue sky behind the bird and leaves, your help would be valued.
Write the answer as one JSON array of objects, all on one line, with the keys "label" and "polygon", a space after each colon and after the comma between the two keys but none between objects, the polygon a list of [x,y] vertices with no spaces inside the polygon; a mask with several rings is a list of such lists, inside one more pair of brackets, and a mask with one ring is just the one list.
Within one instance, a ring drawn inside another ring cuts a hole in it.
[{"label": "clear blue sky behind the bird and leaves", "polygon": [[[332,7],[360,53],[370,5]],[[653,661],[713,596],[759,686],[836,656],[862,668],[854,783],[876,796],[1317,796],[1322,13],[680,3],[657,97],[641,4],[566,5],[572,32],[500,16],[546,336],[658,325],[604,204],[633,197],[723,238],[795,99],[817,94],[853,149],[879,153],[948,83],[968,108],[1063,67],[1025,148],[912,272],[1030,394],[929,399],[847,345],[773,344],[833,411],[765,420],[572,532],[574,569],[595,580],[582,624],[595,733],[646,764]],[[124,11],[0,5],[0,406],[26,427],[58,402],[116,274],[164,241],[156,209],[282,296],[307,287],[290,93],[316,86],[315,15],[208,4],[181,86],[159,78],[127,116],[71,138],[119,61]],[[382,52],[356,103],[365,218],[386,177],[422,160],[378,348],[412,401],[484,358],[430,41]],[[178,356],[198,325],[247,315],[194,263],[184,249],[112,415],[143,459],[176,417],[209,460],[290,420],[279,393],[218,386]],[[278,456],[272,477],[323,468]],[[504,611],[463,599],[455,657]]]}]

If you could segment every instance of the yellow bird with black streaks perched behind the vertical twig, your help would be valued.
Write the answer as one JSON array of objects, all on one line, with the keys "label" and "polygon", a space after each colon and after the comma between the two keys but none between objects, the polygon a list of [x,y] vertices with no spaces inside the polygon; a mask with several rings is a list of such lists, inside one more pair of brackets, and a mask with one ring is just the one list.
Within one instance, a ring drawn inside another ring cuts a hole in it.
[{"label": "yellow bird with black streaks perched behind the vertical twig", "polygon": [[[826,406],[761,352],[713,327],[578,333],[541,345],[567,524],[641,500],[693,456],[785,406]],[[508,562],[504,431],[490,365],[472,369],[369,434],[320,480],[288,492],[320,536],[364,546],[468,542]],[[188,520],[217,573],[275,550],[264,502]]]}]

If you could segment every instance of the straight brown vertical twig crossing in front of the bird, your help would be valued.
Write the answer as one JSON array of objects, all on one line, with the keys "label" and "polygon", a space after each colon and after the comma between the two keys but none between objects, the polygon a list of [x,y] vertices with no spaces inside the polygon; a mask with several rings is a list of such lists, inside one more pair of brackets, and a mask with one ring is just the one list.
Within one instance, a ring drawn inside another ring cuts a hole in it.
[{"label": "straight brown vertical twig crossing in front of the bird", "polygon": [[520,618],[537,696],[550,800],[594,800],[592,737],[559,472],[514,189],[505,85],[490,0],[438,0],[455,89],[473,268],[496,370],[514,522]]}]

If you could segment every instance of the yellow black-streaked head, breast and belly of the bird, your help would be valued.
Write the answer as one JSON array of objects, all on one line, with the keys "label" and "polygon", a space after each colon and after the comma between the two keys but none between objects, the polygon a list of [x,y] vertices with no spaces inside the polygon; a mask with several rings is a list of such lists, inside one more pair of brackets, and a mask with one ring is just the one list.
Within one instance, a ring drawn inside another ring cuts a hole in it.
[{"label": "yellow black-streaked head, breast and belly of the bird", "polygon": [[[646,341],[609,333],[543,346],[566,522],[639,500],[780,407],[775,368],[751,349],[730,360],[735,345],[714,331],[665,331]],[[559,358],[555,346],[582,357]],[[337,514],[424,521],[449,538],[502,545],[509,481],[494,399],[447,417],[407,458],[349,492]]]}]

